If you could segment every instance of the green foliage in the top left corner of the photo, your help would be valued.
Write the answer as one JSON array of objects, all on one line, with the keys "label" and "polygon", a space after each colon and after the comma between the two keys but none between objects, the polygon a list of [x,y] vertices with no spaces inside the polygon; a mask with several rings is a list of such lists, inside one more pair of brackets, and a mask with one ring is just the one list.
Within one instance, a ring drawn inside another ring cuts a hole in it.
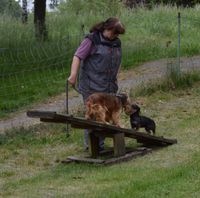
[{"label": "green foliage in the top left corner of the photo", "polygon": [[12,17],[19,18],[21,13],[22,9],[15,0],[0,0],[0,14],[8,14]]}]

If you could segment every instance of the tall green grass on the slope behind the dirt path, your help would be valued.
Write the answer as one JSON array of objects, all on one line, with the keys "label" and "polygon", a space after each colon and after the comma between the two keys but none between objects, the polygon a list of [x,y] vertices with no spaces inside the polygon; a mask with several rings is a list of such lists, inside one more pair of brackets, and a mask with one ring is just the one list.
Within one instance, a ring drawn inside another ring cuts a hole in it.
[{"label": "tall green grass on the slope behind the dirt path", "polygon": [[[93,11],[86,12],[86,8],[81,7],[81,17],[77,17],[73,9],[60,14],[49,13],[49,39],[43,43],[35,40],[32,15],[27,25],[0,16],[0,117],[64,90],[72,56],[83,38],[81,25],[84,24],[86,33],[91,25],[112,13],[97,10],[94,17]],[[121,36],[123,69],[150,60],[176,57],[178,10],[175,7],[159,6],[151,10],[120,7],[116,10],[126,26],[126,34]],[[179,11],[182,15],[181,55],[199,54],[199,6]]]}]

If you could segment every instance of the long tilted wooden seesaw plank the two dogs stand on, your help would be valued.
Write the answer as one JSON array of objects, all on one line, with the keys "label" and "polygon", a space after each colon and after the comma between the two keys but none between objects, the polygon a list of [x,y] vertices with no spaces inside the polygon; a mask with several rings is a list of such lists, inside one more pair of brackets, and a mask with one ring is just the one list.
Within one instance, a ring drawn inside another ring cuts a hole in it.
[{"label": "long tilted wooden seesaw plank the two dogs stand on", "polygon": [[68,123],[74,128],[93,129],[99,133],[105,133],[105,131],[110,134],[124,133],[126,137],[134,138],[138,142],[147,145],[167,146],[177,143],[176,139],[168,139],[143,132],[136,132],[133,129],[119,128],[114,125],[86,120],[85,118],[73,117],[68,114],[57,114],[53,111],[28,111],[27,116],[40,118],[43,122]]}]

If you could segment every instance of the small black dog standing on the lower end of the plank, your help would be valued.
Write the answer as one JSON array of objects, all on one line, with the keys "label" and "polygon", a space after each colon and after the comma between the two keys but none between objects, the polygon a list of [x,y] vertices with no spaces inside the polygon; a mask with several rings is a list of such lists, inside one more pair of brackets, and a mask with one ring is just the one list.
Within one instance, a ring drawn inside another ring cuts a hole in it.
[{"label": "small black dog standing on the lower end of the plank", "polygon": [[148,133],[151,133],[152,131],[153,134],[155,134],[156,132],[155,122],[150,118],[147,118],[145,116],[140,116],[140,107],[138,105],[132,104],[131,107],[133,110],[133,113],[130,115],[131,127],[136,131],[139,128],[145,128],[145,130]]}]

